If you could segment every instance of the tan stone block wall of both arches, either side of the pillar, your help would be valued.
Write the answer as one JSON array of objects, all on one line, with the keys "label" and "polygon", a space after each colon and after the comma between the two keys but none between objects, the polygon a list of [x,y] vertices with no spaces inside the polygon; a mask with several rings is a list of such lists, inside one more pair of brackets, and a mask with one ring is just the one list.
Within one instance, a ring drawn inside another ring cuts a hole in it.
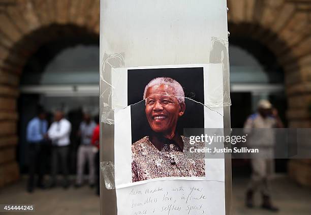
[{"label": "tan stone block wall of both arches, either side of the pillar", "polygon": [[[0,187],[19,177],[16,102],[23,66],[48,41],[85,32],[99,34],[99,2],[0,2]],[[261,42],[284,68],[290,127],[311,127],[311,0],[228,0],[228,8],[231,35]],[[310,172],[310,165],[307,168]]]}]

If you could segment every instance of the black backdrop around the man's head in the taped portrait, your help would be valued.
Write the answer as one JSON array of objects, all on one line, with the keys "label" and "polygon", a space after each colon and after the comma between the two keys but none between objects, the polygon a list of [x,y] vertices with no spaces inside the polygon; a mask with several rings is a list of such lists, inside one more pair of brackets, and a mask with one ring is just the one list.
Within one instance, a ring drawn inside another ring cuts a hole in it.
[{"label": "black backdrop around the man's head in the taped portrait", "polygon": [[[203,68],[170,68],[128,70],[128,105],[131,106],[132,143],[149,136],[151,129],[145,114],[143,99],[145,86],[157,77],[170,77],[178,81],[185,97],[204,104]],[[136,105],[135,103],[139,102]],[[185,99],[185,112],[178,119],[176,131],[182,135],[184,128],[204,128],[204,108]]]}]

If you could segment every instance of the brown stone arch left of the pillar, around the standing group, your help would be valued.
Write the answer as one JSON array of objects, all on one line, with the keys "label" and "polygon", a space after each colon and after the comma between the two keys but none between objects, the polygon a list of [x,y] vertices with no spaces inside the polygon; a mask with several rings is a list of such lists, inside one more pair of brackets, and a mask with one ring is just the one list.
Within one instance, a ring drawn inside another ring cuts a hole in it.
[{"label": "brown stone arch left of the pillar, around the standing group", "polygon": [[24,65],[50,41],[85,36],[99,40],[99,0],[0,4],[0,187],[19,177],[16,163],[17,98]]}]

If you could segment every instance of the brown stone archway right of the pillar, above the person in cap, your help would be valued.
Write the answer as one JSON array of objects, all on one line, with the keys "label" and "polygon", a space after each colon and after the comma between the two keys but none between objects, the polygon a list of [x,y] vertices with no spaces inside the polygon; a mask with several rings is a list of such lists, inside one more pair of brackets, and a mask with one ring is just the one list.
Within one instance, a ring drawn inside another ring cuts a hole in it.
[{"label": "brown stone archway right of the pillar, above the person in cap", "polygon": [[[230,35],[267,47],[285,72],[291,128],[311,127],[311,1],[228,0]],[[311,187],[311,160],[293,159],[289,175]]]}]

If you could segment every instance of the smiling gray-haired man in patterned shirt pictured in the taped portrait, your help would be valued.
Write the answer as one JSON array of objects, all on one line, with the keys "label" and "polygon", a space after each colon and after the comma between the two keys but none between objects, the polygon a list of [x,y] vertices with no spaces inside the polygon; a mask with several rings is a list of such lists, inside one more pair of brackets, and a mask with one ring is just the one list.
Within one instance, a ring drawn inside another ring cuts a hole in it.
[{"label": "smiling gray-haired man in patterned shirt pictured in the taped portrait", "polygon": [[[187,110],[185,99],[188,99],[181,84],[171,77],[155,77],[145,85],[142,93],[144,116],[141,117],[146,118],[149,132],[132,144],[132,182],[160,177],[205,176],[204,159],[189,159],[183,154],[183,147],[190,139],[177,129]],[[189,106],[196,107],[194,104]],[[186,121],[182,124],[184,128],[196,127]]]}]

